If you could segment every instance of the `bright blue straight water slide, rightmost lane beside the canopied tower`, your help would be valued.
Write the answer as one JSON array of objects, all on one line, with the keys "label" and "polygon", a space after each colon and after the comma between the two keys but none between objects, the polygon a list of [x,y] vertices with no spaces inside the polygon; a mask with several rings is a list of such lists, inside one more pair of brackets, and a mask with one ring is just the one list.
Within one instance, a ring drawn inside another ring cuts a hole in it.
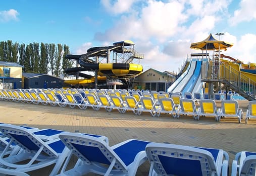
[{"label": "bright blue straight water slide, rightmost lane beside the canopied tower", "polygon": [[202,64],[202,62],[201,61],[193,61],[193,62],[196,62],[196,67],[194,69],[194,72],[193,72],[192,76],[188,80],[186,86],[183,87],[183,89],[181,91],[182,94],[184,94],[185,92],[192,93],[192,91],[194,89],[194,86],[197,83],[198,77],[201,73],[201,64]]}]

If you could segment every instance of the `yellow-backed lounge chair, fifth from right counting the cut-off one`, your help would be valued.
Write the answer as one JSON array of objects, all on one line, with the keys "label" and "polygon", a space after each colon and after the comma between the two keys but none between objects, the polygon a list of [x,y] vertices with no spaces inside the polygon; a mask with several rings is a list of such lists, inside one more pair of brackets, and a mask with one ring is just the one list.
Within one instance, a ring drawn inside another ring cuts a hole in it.
[{"label": "yellow-backed lounge chair, fifth from right counting the cut-off one", "polygon": [[159,117],[161,113],[171,114],[173,118],[175,118],[177,114],[177,108],[171,98],[161,98],[159,99],[159,103],[161,108],[157,112],[157,116]]}]

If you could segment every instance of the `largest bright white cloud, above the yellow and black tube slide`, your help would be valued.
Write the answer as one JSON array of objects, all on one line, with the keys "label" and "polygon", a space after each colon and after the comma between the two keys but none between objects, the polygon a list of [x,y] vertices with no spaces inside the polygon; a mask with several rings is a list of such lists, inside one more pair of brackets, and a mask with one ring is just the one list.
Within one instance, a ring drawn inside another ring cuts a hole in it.
[{"label": "largest bright white cloud, above the yellow and black tube slide", "polygon": [[[182,24],[187,16],[182,13],[182,3],[172,1],[164,4],[158,1],[148,1],[141,12],[132,11],[122,16],[113,28],[105,33],[97,33],[96,40],[111,40],[116,38],[136,38],[148,40],[150,37],[164,42],[167,37],[183,30]],[[120,39],[119,39],[120,40]]]}]

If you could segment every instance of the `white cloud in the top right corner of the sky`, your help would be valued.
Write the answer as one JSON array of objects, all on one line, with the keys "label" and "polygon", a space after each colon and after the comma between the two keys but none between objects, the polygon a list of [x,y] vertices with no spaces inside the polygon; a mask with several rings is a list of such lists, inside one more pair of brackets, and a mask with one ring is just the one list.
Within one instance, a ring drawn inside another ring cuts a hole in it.
[{"label": "white cloud in the top right corner of the sky", "polygon": [[256,1],[255,0],[242,0],[240,8],[234,11],[233,17],[230,18],[230,24],[235,26],[240,22],[249,22],[256,19]]}]

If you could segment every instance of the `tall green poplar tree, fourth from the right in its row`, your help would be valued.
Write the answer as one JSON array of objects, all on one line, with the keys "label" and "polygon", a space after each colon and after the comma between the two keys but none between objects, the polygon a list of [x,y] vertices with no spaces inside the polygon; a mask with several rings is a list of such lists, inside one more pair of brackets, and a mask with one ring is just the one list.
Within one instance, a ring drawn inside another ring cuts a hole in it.
[{"label": "tall green poplar tree, fourth from the right in its row", "polygon": [[41,43],[41,57],[39,61],[39,73],[48,73],[48,44]]}]

